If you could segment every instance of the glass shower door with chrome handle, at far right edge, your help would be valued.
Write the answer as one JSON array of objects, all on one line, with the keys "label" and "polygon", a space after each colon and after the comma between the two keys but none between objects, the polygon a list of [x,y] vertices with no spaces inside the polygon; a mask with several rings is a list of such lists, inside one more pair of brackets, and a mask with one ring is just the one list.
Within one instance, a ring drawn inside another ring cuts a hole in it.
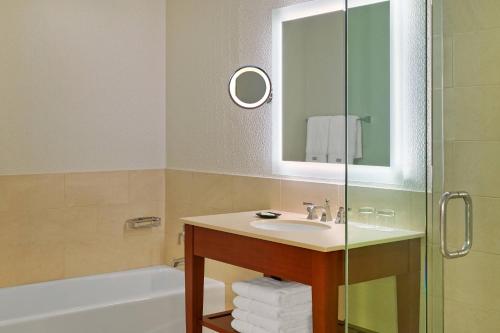
[{"label": "glass shower door with chrome handle, at far right edge", "polygon": [[499,13],[434,1],[433,332],[500,330]]}]

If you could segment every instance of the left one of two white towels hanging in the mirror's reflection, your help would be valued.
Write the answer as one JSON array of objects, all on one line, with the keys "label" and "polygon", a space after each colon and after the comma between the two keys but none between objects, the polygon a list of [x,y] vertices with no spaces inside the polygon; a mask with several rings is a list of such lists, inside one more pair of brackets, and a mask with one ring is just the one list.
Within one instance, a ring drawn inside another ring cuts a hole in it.
[{"label": "left one of two white towels hanging in the mirror's reflection", "polygon": [[308,118],[306,162],[327,162],[330,118],[329,116]]}]

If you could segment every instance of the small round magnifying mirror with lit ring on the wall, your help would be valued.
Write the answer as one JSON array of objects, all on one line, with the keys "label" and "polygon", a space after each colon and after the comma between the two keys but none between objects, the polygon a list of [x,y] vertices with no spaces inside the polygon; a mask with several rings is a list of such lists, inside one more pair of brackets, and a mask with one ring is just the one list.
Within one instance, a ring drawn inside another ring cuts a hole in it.
[{"label": "small round magnifying mirror with lit ring on the wall", "polygon": [[256,109],[271,101],[271,80],[267,73],[258,67],[242,67],[229,81],[229,95],[236,105],[245,109]]}]

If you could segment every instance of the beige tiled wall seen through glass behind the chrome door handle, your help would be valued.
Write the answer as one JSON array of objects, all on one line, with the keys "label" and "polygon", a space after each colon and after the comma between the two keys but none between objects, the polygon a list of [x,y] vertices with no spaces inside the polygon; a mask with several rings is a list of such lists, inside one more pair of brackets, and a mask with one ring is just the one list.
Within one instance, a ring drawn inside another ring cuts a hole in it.
[{"label": "beige tiled wall seen through glass behind the chrome door handle", "polygon": [[[472,253],[445,261],[449,333],[500,327],[499,17],[500,1],[444,1],[445,187],[469,191],[475,203]],[[457,207],[456,214],[462,221],[463,208]],[[454,236],[455,243],[463,237]]]}]

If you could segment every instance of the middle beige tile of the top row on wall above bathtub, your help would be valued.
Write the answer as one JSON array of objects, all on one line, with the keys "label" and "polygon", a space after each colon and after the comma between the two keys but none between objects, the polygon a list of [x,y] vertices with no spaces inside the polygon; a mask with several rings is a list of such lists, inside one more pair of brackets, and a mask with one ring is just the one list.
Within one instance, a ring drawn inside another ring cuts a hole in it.
[{"label": "middle beige tile of the top row on wall above bathtub", "polygon": [[65,192],[68,207],[126,204],[129,201],[128,172],[67,174]]}]

